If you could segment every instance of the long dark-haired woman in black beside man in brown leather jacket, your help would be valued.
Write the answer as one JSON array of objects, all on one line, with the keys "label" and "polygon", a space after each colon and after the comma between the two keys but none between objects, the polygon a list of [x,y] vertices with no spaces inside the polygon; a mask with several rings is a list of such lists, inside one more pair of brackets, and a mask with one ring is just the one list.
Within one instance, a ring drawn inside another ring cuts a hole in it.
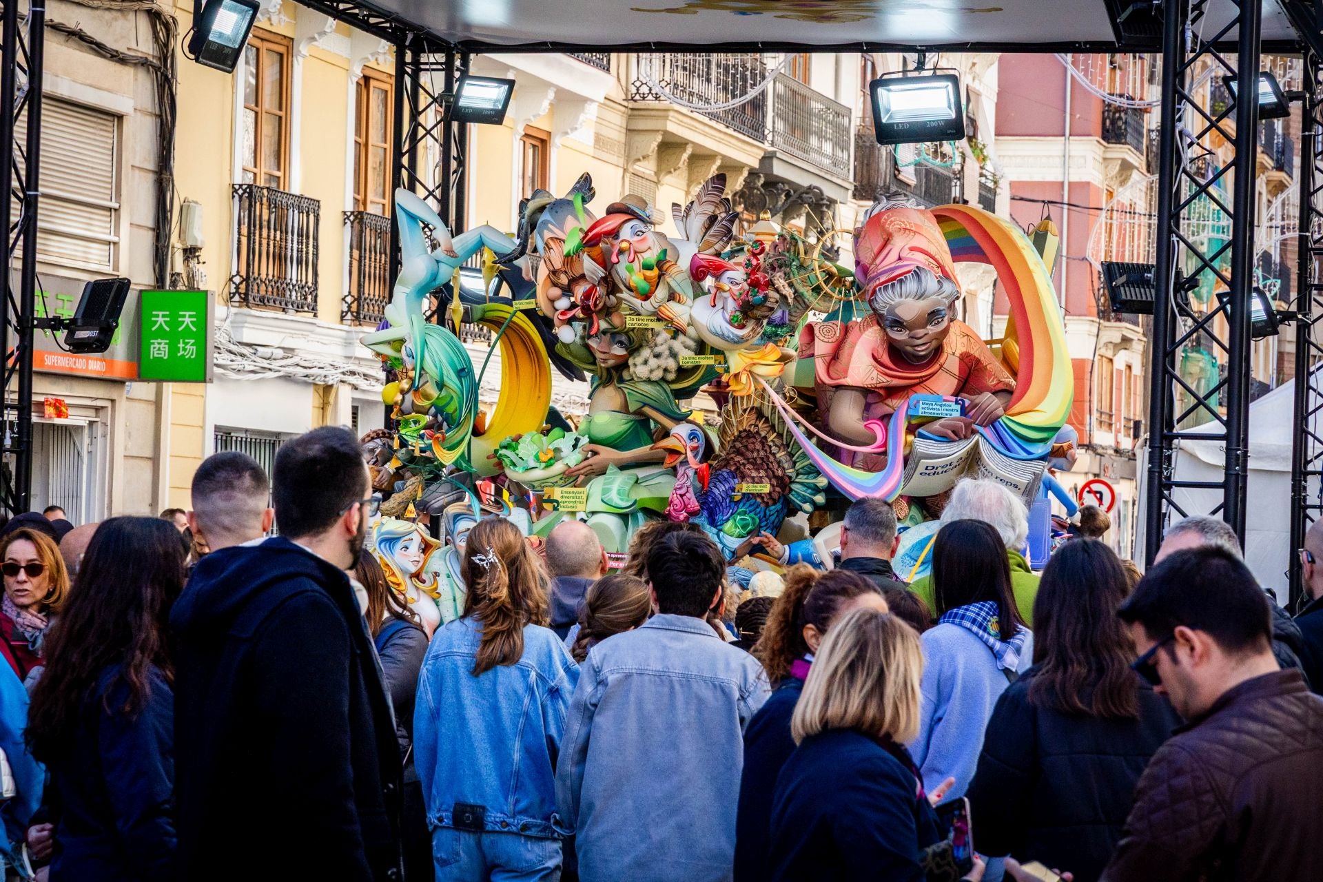
[{"label": "long dark-haired woman in black beside man in brown leather jacket", "polygon": [[1135,660],[1117,616],[1130,591],[1121,561],[1095,540],[1066,542],[1048,562],[1033,668],[998,701],[967,793],[984,854],[1093,882],[1121,841],[1139,775],[1179,723],[1135,676],[1155,672]]}]

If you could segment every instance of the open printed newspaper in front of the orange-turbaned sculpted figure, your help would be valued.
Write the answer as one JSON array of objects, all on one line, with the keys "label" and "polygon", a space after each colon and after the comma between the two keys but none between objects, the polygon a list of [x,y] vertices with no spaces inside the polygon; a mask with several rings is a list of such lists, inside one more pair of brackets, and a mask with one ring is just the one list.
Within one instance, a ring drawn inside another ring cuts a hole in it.
[{"label": "open printed newspaper in front of the orange-turbaned sculpted figure", "polygon": [[998,451],[982,435],[962,440],[918,436],[905,458],[901,493],[935,496],[955,487],[962,477],[990,479],[1020,499],[1031,500],[1043,480],[1045,460],[1017,460]]}]

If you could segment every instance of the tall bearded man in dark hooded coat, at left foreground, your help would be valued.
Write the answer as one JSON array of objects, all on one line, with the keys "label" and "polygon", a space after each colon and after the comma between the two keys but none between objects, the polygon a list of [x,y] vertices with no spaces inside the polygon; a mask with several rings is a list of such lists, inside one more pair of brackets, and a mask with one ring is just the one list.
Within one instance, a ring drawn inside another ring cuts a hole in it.
[{"label": "tall bearded man in dark hooded coat, at left foreground", "polygon": [[394,719],[345,574],[368,472],[324,427],[274,477],[280,536],[202,558],[171,614],[181,875],[400,879]]}]

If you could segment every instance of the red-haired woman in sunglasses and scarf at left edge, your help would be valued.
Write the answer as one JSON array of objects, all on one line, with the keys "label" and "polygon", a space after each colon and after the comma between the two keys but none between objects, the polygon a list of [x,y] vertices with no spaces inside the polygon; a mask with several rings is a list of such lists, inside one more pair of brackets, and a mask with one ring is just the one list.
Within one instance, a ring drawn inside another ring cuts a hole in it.
[{"label": "red-haired woman in sunglasses and scarf at left edge", "polygon": [[45,533],[21,528],[0,538],[0,652],[28,689],[41,674],[46,628],[69,594],[60,547]]}]

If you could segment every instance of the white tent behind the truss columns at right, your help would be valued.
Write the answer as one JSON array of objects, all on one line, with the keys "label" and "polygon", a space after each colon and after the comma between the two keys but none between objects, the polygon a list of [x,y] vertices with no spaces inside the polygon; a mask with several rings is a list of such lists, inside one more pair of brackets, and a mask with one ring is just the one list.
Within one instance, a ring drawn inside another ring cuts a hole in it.
[{"label": "white tent behind the truss columns at right", "polygon": [[[1291,411],[1295,381],[1267,393],[1249,406],[1249,493],[1245,518],[1245,562],[1265,588],[1273,588],[1286,602],[1286,567],[1291,538]],[[1212,432],[1207,423],[1192,432]],[[1139,458],[1139,510],[1144,510],[1147,488],[1147,444]],[[1226,454],[1221,440],[1181,439],[1172,452],[1176,480],[1220,481],[1226,473]],[[1318,497],[1318,483],[1310,493]],[[1212,512],[1222,499],[1221,489],[1174,491],[1172,499],[1191,514]],[[1172,521],[1179,514],[1172,512]],[[1140,518],[1142,520],[1142,518]],[[1135,540],[1135,559],[1144,558],[1144,536]]]}]

